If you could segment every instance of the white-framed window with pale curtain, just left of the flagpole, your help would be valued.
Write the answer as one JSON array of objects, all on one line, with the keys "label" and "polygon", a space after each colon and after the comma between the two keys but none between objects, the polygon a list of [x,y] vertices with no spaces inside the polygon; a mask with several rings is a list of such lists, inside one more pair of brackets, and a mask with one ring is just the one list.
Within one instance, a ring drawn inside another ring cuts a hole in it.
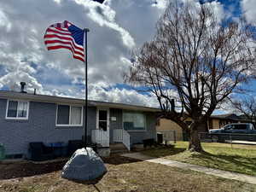
[{"label": "white-framed window with pale curtain, just left of the flagpole", "polygon": [[78,106],[58,105],[56,125],[81,126],[83,125],[83,108]]}]

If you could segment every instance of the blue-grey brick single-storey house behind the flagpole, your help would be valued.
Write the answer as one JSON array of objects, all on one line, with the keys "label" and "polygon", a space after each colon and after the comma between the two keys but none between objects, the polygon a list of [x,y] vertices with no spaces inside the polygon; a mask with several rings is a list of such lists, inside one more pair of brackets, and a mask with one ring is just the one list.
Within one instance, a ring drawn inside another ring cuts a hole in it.
[{"label": "blue-grey brick single-storey house behind the flagpole", "polygon": [[[88,140],[130,149],[143,139],[156,139],[158,108],[89,101]],[[32,142],[67,143],[84,135],[84,100],[0,91],[0,143],[6,154],[28,153]]]}]

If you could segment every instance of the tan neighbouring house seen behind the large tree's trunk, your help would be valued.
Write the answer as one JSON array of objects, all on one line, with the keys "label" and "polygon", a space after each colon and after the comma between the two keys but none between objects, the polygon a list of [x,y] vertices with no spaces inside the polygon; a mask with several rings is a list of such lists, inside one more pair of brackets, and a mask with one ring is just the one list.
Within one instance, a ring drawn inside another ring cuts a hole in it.
[{"label": "tan neighbouring house seen behind the large tree's trunk", "polygon": [[[187,124],[192,122],[192,119],[187,118],[185,120]],[[200,128],[200,132],[207,132],[211,129],[219,129],[224,125],[230,123],[249,122],[245,117],[238,116],[235,113],[212,115],[210,119],[205,123],[205,126]],[[186,134],[183,134],[182,128],[170,119],[160,119],[156,127],[157,131],[175,131],[177,141],[182,141]]]}]

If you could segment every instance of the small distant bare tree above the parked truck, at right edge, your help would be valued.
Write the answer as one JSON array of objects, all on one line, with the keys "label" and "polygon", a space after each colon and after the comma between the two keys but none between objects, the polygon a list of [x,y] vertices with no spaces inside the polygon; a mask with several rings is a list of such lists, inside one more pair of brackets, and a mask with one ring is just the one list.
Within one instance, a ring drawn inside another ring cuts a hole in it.
[{"label": "small distant bare tree above the parked truck, at right edge", "polygon": [[247,121],[255,125],[256,122],[256,101],[253,96],[245,96],[232,102],[235,111],[241,113]]}]

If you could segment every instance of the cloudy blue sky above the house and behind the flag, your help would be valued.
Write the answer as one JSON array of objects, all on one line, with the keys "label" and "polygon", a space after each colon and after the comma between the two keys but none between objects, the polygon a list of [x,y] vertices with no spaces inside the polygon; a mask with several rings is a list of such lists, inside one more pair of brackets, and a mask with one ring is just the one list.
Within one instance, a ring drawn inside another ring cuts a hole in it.
[{"label": "cloudy blue sky above the house and behind the flag", "polygon": [[[158,107],[154,96],[133,90],[123,75],[131,53],[154,37],[155,23],[172,0],[9,0],[0,2],[0,90],[84,98],[84,63],[66,49],[48,51],[44,32],[68,20],[88,33],[89,99]],[[184,1],[184,0],[177,0]],[[208,3],[218,17],[244,16],[255,25],[255,0],[189,0]],[[248,85],[252,89],[255,84]],[[255,90],[255,88],[254,88]]]}]

